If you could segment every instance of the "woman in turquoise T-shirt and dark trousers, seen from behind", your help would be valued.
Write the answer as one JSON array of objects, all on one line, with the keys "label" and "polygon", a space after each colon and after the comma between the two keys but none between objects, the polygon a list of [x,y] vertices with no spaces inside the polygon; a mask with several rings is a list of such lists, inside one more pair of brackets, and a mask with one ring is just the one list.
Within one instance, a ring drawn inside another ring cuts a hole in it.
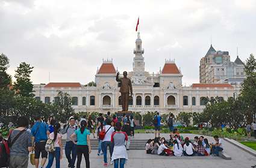
[{"label": "woman in turquoise T-shirt and dark trousers, seen from behind", "polygon": [[[85,120],[81,121],[81,128],[78,130],[75,130],[75,133],[73,133],[70,136],[70,139],[72,139],[72,142],[77,145],[76,146],[76,155],[77,155],[76,168],[80,168],[82,155],[84,155],[84,158],[86,159],[86,168],[90,168],[89,154],[91,153],[92,150],[90,145],[90,131],[87,130],[86,126],[87,126],[87,122]],[[77,139],[77,142],[75,142],[75,137]]]}]

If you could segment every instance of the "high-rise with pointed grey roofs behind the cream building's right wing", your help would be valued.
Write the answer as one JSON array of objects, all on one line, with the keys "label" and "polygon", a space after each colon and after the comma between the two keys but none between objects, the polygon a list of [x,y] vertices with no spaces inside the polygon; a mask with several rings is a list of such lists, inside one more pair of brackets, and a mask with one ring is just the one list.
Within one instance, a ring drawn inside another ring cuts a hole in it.
[{"label": "high-rise with pointed grey roofs behind the cream building's right wing", "polygon": [[210,46],[206,55],[201,58],[199,66],[200,83],[241,83],[245,79],[245,64],[237,56],[236,61],[231,62],[229,53],[216,51]]}]

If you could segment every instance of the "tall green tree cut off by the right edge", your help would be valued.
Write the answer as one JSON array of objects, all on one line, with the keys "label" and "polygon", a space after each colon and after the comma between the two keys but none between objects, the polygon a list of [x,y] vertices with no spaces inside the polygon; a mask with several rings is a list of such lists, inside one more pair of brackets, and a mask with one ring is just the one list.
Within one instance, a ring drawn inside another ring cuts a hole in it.
[{"label": "tall green tree cut off by the right edge", "polygon": [[[243,97],[246,104],[246,111],[248,116],[254,116],[251,121],[256,118],[256,59],[254,55],[250,55],[246,60],[245,65],[246,79],[243,81],[240,96]],[[251,115],[249,114],[251,113]]]}]

